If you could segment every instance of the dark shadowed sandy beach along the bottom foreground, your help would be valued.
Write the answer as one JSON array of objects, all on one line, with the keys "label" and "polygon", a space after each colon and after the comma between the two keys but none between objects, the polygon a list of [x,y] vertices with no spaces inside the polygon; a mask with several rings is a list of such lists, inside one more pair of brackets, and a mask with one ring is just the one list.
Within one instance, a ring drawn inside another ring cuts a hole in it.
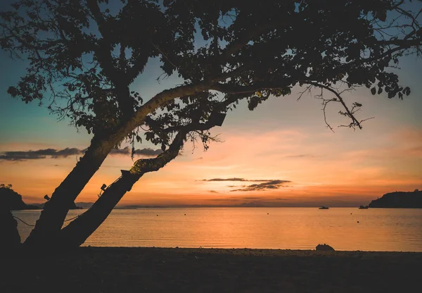
[{"label": "dark shadowed sandy beach along the bottom foreground", "polygon": [[1,259],[0,292],[419,292],[422,253],[81,247]]}]

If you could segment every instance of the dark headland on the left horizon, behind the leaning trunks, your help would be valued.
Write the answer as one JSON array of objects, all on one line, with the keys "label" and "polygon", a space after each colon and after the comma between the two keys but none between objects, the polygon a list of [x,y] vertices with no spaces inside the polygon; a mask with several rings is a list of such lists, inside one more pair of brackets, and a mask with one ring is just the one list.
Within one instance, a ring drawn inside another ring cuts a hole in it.
[{"label": "dark headland on the left horizon, behind the leaning trunks", "polygon": [[[11,211],[19,211],[19,210],[41,210],[44,208],[44,204],[25,204],[22,199],[22,195],[15,192],[12,189],[12,185],[4,185],[3,183],[0,184],[0,207],[8,208]],[[75,203],[72,204],[70,209],[78,209],[79,206],[76,206]]]}]

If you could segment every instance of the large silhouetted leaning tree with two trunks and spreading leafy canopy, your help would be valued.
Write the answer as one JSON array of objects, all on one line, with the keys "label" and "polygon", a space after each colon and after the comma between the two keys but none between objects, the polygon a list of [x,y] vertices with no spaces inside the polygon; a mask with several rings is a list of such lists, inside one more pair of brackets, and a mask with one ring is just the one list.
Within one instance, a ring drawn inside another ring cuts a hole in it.
[{"label": "large silhouetted leaning tree with two trunks and spreading leafy canopy", "polygon": [[[16,1],[0,13],[0,45],[30,63],[8,93],[26,103],[50,98],[52,113],[93,133],[25,245],[81,244],[141,175],[171,161],[187,139],[206,149],[215,118],[241,99],[253,110],[295,85],[317,87],[333,96],[321,94],[324,109],[339,103],[346,126],[362,127],[354,116],[362,105],[347,105],[337,88],[408,95],[388,68],[421,53],[420,8],[411,0]],[[131,85],[151,58],[184,82],[143,101]],[[111,149],[124,139],[141,142],[142,134],[163,153],[136,161],[95,208],[61,230],[68,206]]]}]

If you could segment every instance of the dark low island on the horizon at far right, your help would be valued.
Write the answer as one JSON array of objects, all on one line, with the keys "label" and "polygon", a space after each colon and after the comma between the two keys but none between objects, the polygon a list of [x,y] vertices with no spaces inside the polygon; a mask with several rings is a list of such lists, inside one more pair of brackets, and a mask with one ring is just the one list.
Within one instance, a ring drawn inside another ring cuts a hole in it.
[{"label": "dark low island on the horizon at far right", "polygon": [[422,190],[414,192],[390,192],[381,199],[375,199],[370,208],[422,208]]}]

